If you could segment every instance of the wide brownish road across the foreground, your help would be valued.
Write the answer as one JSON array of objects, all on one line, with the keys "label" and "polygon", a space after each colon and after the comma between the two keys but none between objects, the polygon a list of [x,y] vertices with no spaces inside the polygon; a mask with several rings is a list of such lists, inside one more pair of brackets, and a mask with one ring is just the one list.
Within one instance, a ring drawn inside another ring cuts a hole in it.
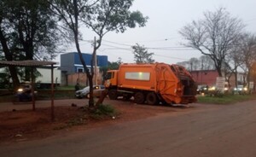
[{"label": "wide brownish road across the foreground", "polygon": [[1,157],[255,157],[256,101],[184,112],[0,146]]}]

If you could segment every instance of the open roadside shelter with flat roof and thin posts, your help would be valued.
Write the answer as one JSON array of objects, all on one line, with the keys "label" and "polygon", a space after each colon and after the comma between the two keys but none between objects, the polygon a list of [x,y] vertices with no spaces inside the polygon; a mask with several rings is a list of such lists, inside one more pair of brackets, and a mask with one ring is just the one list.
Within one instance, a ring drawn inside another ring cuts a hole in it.
[{"label": "open roadside shelter with flat roof and thin posts", "polygon": [[56,62],[54,61],[35,61],[35,60],[26,60],[26,61],[0,61],[0,67],[32,67],[32,74],[31,74],[31,84],[32,84],[32,110],[35,111],[36,101],[34,96],[34,88],[35,88],[35,78],[33,75],[33,71],[36,67],[43,67],[43,66],[51,66],[51,119],[55,119],[55,112],[54,112],[54,73],[53,73],[53,65]]}]

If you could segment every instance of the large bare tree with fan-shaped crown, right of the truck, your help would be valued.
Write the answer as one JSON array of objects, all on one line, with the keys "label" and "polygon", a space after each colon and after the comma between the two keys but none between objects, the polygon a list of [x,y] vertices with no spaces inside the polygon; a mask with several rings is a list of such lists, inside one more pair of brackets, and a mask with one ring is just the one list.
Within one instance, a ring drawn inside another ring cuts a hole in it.
[{"label": "large bare tree with fan-shaped crown, right of the truck", "polygon": [[218,75],[222,76],[222,67],[230,49],[241,35],[241,20],[232,17],[225,9],[216,12],[207,11],[204,19],[192,21],[179,32],[188,43],[188,47],[198,49],[214,62]]}]

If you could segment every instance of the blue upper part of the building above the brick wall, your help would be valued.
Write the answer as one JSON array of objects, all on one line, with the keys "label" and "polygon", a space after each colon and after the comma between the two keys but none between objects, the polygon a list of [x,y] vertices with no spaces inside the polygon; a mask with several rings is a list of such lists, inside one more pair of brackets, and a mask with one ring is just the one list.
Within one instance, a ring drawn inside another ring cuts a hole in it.
[{"label": "blue upper part of the building above the brick wall", "polygon": [[[90,67],[90,61],[92,59],[91,54],[82,54],[85,64]],[[96,55],[97,67],[108,66],[108,55]],[[67,74],[83,73],[84,67],[80,61],[78,52],[70,52],[61,54],[61,71],[65,71]]]}]

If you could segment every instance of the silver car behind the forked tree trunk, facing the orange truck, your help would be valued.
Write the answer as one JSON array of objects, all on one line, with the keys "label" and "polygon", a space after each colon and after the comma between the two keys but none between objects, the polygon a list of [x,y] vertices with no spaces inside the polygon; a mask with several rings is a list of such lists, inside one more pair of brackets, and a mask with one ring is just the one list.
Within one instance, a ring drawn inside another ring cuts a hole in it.
[{"label": "silver car behind the forked tree trunk, facing the orange truck", "polygon": [[[93,85],[93,96],[101,96],[102,91],[105,90],[104,85]],[[89,98],[90,97],[90,86],[84,87],[82,90],[77,90],[75,93],[77,98]]]}]

